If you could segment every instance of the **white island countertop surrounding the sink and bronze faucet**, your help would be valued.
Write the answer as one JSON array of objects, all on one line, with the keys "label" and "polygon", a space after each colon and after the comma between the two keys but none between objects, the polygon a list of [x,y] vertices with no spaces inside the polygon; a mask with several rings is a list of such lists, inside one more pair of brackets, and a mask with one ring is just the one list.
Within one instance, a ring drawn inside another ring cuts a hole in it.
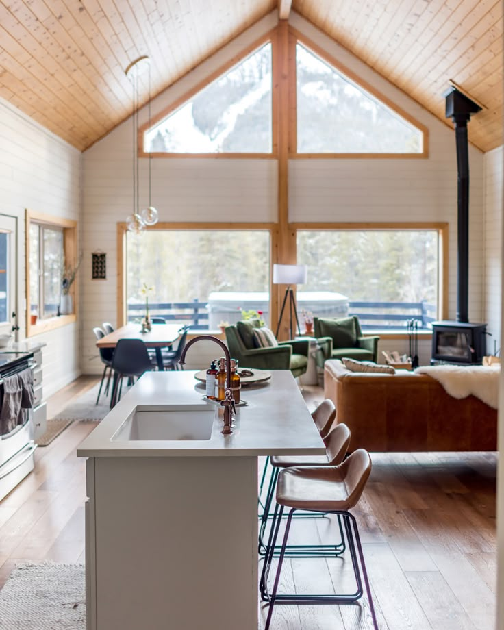
[{"label": "white island countertop surrounding the sink and bronze faucet", "polygon": [[[266,383],[242,388],[249,404],[236,409],[236,427],[222,430],[223,411],[203,400],[205,389],[194,371],[149,372],[123,396],[77,449],[79,457],[249,457],[323,455],[325,448],[289,370],[275,370]],[[136,440],[118,442],[114,434],[138,405],[211,405],[210,440]]]}]

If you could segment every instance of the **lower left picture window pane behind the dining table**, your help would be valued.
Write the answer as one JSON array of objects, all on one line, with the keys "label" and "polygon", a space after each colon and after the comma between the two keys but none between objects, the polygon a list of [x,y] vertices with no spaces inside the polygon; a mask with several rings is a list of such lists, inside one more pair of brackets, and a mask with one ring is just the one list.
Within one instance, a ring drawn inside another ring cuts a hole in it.
[{"label": "lower left picture window pane behind the dining table", "polygon": [[149,313],[192,330],[216,330],[243,311],[268,320],[268,229],[149,229],[126,232],[127,318]]}]

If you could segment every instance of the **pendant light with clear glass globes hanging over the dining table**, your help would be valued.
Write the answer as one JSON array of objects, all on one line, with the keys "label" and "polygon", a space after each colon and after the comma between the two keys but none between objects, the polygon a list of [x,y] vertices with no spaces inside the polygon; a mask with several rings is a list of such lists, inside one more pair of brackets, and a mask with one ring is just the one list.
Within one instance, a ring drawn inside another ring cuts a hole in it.
[{"label": "pendant light with clear glass globes hanging over the dining table", "polygon": [[142,234],[146,225],[157,223],[157,210],[151,204],[151,153],[149,152],[149,207],[140,212],[140,173],[138,165],[138,77],[145,67],[149,68],[149,126],[151,122],[151,64],[149,57],[143,55],[131,62],[125,70],[125,75],[133,86],[133,212],[126,219],[127,229],[135,234]]}]

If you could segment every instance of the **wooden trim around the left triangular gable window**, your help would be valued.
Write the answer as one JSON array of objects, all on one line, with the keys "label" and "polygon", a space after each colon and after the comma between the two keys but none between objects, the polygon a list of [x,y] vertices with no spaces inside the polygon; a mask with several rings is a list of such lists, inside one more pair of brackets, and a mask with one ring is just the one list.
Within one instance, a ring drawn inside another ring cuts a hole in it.
[{"label": "wooden trim around the left triangular gable window", "polygon": [[[203,88],[210,85],[213,81],[221,77],[223,74],[227,73],[227,71],[231,70],[234,66],[237,66],[242,60],[246,59],[250,55],[252,55],[255,51],[262,48],[264,45],[270,43],[271,44],[271,64],[272,64],[272,73],[271,73],[271,152],[270,153],[149,153],[148,151],[144,151],[144,134],[148,129],[151,129],[157,123],[167,118],[172,112],[179,109],[186,101],[196,95],[198,92],[201,92]],[[144,123],[138,129],[138,138],[137,138],[137,146],[138,146],[138,157],[161,157],[171,159],[175,158],[198,158],[198,157],[216,157],[217,159],[260,159],[260,160],[273,160],[278,157],[278,118],[279,118],[279,110],[278,110],[278,97],[277,90],[275,89],[275,47],[277,45],[277,31],[276,28],[264,34],[262,37],[252,42],[247,47],[242,49],[239,53],[234,55],[231,59],[229,59],[225,64],[219,66],[216,70],[214,70],[210,75],[207,75],[205,79],[198,81],[198,83],[184,92],[183,95],[175,99],[168,107],[164,108],[159,114],[156,114],[151,118],[150,121]]]}]

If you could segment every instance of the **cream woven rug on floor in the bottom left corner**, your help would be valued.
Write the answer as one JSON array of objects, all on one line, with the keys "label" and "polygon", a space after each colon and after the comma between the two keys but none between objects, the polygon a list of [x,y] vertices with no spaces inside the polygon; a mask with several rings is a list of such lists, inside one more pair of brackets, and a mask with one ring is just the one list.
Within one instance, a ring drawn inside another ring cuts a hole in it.
[{"label": "cream woven rug on floor in the bottom left corner", "polygon": [[0,590],[0,630],[85,630],[84,564],[18,566]]}]

